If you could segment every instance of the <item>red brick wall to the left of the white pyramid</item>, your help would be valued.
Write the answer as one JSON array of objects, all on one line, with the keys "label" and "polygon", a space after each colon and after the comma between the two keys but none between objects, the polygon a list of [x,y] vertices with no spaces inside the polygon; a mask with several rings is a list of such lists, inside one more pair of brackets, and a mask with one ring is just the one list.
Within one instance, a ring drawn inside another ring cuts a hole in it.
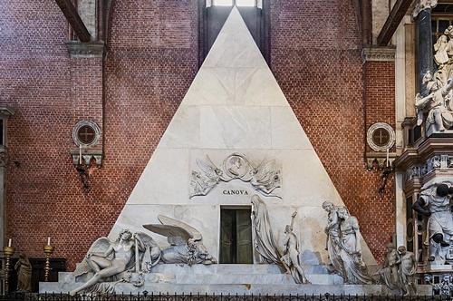
[{"label": "red brick wall to the left of the white pyramid", "polygon": [[[53,0],[0,2],[0,102],[11,104],[7,238],[75,267],[110,232],[198,67],[196,1],[116,0],[105,63],[104,152],[92,191],[72,166],[72,127],[102,127],[101,60],[70,59],[68,27]],[[16,166],[14,161],[19,164]]]}]

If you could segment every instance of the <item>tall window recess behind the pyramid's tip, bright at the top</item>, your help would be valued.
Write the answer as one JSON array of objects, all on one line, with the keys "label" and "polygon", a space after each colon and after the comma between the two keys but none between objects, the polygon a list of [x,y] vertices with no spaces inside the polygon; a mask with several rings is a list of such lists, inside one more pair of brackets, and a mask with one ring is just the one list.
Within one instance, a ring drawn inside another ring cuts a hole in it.
[{"label": "tall window recess behind the pyramid's tip, bright at the top", "polygon": [[233,5],[241,13],[265,61],[270,64],[270,0],[202,0],[199,11],[199,65],[217,39]]}]

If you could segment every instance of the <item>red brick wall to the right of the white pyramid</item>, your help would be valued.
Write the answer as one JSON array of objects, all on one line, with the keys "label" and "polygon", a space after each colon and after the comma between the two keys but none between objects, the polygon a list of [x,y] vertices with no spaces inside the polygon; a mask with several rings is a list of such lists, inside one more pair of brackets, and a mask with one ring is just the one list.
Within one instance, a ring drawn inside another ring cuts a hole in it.
[{"label": "red brick wall to the right of the white pyramid", "polygon": [[[391,63],[364,76],[353,1],[273,1],[272,69],[361,233],[381,260],[395,231],[394,186],[383,198],[381,173],[367,171],[366,126],[394,125]],[[365,123],[365,85],[367,122]],[[384,114],[383,118],[381,115]]]}]

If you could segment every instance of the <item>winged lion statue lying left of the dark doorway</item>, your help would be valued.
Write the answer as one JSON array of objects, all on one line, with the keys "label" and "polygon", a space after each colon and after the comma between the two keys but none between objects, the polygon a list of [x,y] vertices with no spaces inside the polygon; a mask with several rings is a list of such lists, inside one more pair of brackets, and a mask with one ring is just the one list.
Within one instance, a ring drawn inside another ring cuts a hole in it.
[{"label": "winged lion statue lying left of the dark doorway", "polygon": [[161,224],[143,225],[149,231],[167,237],[169,248],[161,248],[159,260],[167,264],[194,264],[211,265],[217,263],[205,245],[203,236],[196,229],[185,222],[163,215],[158,217]]}]

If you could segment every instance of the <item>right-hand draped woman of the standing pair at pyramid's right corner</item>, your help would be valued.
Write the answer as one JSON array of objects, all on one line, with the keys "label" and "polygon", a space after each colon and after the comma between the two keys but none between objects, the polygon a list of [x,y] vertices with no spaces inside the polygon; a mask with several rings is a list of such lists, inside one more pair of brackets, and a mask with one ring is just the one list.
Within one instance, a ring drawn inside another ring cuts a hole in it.
[{"label": "right-hand draped woman of the standing pair at pyramid's right corner", "polygon": [[340,218],[340,258],[342,273],[347,284],[372,284],[368,269],[361,257],[361,240],[359,222],[349,214],[348,209],[338,209]]}]

